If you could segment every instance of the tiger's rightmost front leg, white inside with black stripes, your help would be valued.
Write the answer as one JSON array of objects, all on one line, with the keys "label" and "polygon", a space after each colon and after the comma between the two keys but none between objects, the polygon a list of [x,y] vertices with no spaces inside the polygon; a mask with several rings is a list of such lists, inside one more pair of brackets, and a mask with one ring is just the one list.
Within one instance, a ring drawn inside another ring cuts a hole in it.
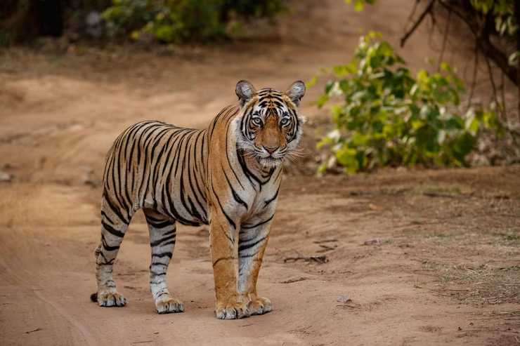
[{"label": "tiger's rightmost front leg, white inside with black stripes", "polygon": [[[266,220],[264,220],[266,219]],[[240,228],[238,245],[238,292],[249,300],[249,314],[266,314],[273,310],[271,300],[256,293],[256,281],[266,251],[271,218],[261,217]]]}]

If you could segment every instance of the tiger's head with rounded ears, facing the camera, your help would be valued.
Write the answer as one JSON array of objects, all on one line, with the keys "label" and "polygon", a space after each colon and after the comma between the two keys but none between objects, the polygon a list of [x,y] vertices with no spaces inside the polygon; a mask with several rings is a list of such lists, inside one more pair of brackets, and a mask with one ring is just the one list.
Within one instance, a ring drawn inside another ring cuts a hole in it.
[{"label": "tiger's head with rounded ears, facing the camera", "polygon": [[241,106],[236,119],[238,148],[267,167],[295,154],[304,122],[298,114],[304,82],[295,81],[281,93],[271,88],[256,91],[249,81],[239,81],[236,93]]}]

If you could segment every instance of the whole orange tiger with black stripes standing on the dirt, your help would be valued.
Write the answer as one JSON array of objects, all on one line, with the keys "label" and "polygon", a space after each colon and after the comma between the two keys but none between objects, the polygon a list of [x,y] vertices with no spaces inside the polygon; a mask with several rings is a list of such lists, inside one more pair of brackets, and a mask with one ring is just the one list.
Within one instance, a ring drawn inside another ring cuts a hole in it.
[{"label": "whole orange tiger with black stripes standing on the dirt", "polygon": [[95,251],[101,307],[126,305],[112,278],[119,246],[139,209],[150,233],[150,291],[159,314],[183,312],[167,287],[176,223],[209,225],[218,319],[273,310],[256,291],[275,215],[282,162],[295,154],[306,91],[295,81],[285,92],[258,91],[248,81],[235,88],[238,104],[202,130],[160,121],[126,128],[110,148],[103,175],[101,237]]}]

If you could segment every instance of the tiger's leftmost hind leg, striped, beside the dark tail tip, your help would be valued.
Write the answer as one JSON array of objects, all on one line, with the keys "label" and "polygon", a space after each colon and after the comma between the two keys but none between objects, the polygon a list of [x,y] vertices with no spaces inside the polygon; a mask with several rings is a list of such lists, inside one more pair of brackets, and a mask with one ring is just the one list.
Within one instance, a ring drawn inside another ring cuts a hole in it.
[{"label": "tiger's leftmost hind leg, striped, beside the dark tail tip", "polygon": [[104,201],[101,208],[101,241],[95,251],[98,291],[91,295],[91,300],[101,307],[122,307],[126,305],[126,298],[117,292],[112,270],[129,221],[120,220],[113,213],[109,217],[106,208]]}]

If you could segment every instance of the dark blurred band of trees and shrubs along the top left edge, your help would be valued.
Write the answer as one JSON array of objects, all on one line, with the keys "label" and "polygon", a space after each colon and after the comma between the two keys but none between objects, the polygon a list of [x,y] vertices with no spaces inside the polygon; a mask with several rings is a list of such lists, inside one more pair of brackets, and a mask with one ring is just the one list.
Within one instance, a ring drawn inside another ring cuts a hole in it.
[{"label": "dark blurred band of trees and shrubs along the top left edge", "polygon": [[243,21],[274,18],[283,0],[6,0],[1,43],[37,36],[148,39],[159,43],[229,39]]}]

